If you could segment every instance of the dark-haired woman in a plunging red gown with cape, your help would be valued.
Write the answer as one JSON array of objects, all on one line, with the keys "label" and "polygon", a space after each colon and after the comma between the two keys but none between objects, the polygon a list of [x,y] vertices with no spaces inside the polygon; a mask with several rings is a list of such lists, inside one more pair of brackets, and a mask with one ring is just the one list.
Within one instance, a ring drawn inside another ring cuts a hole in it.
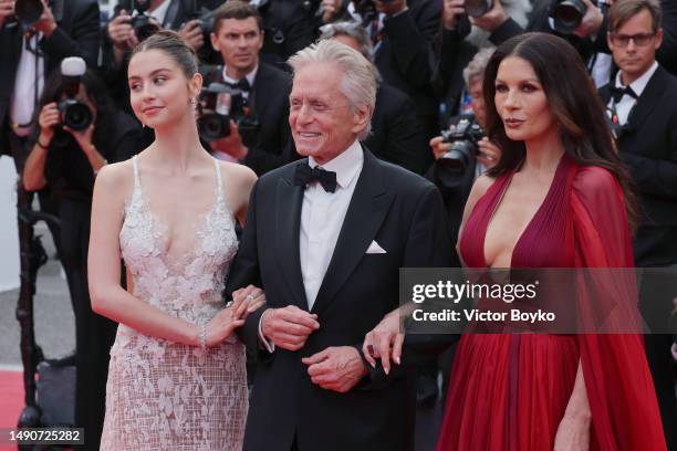
[{"label": "dark-haired woman in a plunging red gown with cape", "polygon": [[[485,74],[503,149],[466,206],[470,268],[632,268],[632,195],[583,63],[542,33],[499,46]],[[665,450],[638,335],[467,334],[437,449]]]}]

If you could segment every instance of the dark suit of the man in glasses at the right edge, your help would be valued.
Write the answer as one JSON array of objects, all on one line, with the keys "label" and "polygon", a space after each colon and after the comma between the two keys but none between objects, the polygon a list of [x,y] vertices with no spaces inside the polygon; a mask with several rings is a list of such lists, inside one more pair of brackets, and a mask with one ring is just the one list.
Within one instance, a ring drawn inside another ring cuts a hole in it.
[{"label": "dark suit of the man in glasses at the right edge", "polygon": [[[600,90],[600,96],[608,103],[607,86]],[[618,139],[618,150],[638,193],[635,264],[677,264],[677,77],[663,67],[658,66],[631,112]],[[669,317],[671,300],[677,293],[670,292],[666,282],[669,281],[643,281],[642,298],[665,298],[664,303],[643,303],[642,312],[646,317]],[[645,340],[668,449],[673,449],[677,447],[677,413],[669,355],[671,339],[654,334],[647,335]]]}]

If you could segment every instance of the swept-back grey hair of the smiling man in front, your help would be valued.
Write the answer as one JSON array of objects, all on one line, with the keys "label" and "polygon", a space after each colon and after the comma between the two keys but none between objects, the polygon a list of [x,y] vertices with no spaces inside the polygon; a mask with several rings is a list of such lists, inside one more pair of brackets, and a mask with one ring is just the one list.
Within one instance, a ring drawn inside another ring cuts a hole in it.
[{"label": "swept-back grey hair of the smiling man in front", "polygon": [[357,138],[366,139],[372,130],[372,115],[376,105],[376,70],[360,52],[334,40],[319,41],[296,52],[288,61],[295,74],[313,63],[333,64],[343,73],[341,92],[353,112],[358,106],[368,108],[368,119]]}]

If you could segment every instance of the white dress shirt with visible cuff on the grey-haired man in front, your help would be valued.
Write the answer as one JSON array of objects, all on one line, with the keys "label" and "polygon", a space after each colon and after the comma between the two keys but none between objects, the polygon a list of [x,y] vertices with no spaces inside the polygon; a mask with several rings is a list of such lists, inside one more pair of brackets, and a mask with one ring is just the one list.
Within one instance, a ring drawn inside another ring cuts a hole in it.
[{"label": "white dress shirt with visible cuff on the grey-haired man in front", "polygon": [[[313,157],[309,157],[308,160],[311,168],[317,166]],[[363,165],[362,146],[355,140],[337,157],[321,166],[325,170],[336,172],[336,191],[326,192],[319,182],[314,181],[303,192],[299,251],[301,275],[309,311],[313,308],[317,292],[334,254],[338,233],[343,227],[345,213],[353,198]],[[261,319],[263,315],[261,315]],[[263,337],[261,323],[259,322],[259,337],[263,346],[272,353],[274,346]]]}]

